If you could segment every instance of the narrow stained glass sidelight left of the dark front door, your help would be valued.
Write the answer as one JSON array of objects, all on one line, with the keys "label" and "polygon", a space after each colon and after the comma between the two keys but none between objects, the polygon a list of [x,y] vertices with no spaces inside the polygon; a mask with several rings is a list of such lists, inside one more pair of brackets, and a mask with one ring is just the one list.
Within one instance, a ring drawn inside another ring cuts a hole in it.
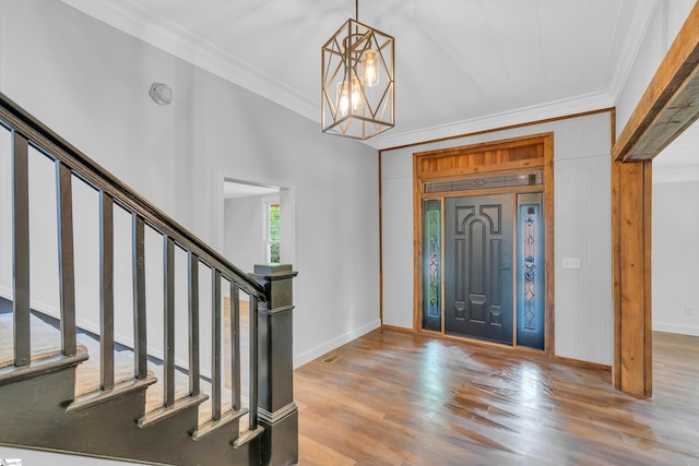
[{"label": "narrow stained glass sidelight left of the dark front door", "polygon": [[423,203],[423,328],[441,331],[441,202]]}]

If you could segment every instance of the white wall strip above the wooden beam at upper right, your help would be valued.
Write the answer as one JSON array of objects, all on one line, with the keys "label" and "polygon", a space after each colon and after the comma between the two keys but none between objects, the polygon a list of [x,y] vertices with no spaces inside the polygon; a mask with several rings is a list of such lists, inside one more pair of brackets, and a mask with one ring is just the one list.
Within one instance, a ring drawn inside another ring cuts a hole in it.
[{"label": "white wall strip above the wooden beam at upper right", "polygon": [[631,117],[636,105],[650,84],[657,67],[665,58],[667,49],[675,40],[685,20],[689,15],[695,0],[657,0],[653,16],[648,25],[643,41],[638,48],[631,72],[616,101],[616,132]]}]

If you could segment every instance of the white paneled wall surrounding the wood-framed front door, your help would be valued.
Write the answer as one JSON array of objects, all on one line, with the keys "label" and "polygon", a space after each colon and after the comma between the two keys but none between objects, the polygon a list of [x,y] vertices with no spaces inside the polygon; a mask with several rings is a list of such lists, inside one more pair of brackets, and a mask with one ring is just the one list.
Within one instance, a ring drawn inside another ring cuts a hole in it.
[{"label": "white paneled wall surrounding the wood-framed front door", "polygon": [[[611,113],[414,147],[381,157],[383,323],[413,325],[413,153],[554,132],[555,354],[612,365]],[[580,258],[564,270],[562,258]]]}]

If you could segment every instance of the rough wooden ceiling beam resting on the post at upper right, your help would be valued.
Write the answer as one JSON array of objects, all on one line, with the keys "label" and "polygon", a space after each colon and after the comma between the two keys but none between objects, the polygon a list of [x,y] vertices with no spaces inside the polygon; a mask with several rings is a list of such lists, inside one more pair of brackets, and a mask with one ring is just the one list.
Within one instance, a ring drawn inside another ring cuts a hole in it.
[{"label": "rough wooden ceiling beam resting on the post at upper right", "polygon": [[614,160],[649,160],[699,118],[699,2],[624,127]]}]

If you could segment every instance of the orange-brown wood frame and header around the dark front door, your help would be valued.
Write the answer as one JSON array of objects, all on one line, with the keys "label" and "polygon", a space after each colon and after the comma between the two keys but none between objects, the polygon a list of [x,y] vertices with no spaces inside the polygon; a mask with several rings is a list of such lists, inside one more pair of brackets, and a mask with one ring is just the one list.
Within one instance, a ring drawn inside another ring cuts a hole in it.
[{"label": "orange-brown wood frame and header around the dark front door", "polygon": [[[510,188],[487,188],[469,191],[425,193],[426,182],[460,180],[497,175],[543,172],[543,184]],[[483,195],[500,193],[544,193],[545,228],[545,336],[544,353],[554,354],[554,133],[541,133],[516,139],[500,140],[475,145],[450,147],[413,155],[413,232],[414,232],[414,274],[413,274],[413,330],[437,333],[445,336],[445,310],[442,302],[441,332],[423,330],[422,322],[422,263],[423,263],[423,201],[459,195]],[[443,243],[443,229],[442,229]],[[443,254],[443,251],[442,251]],[[442,258],[443,267],[443,258]],[[442,271],[443,276],[443,271]],[[443,296],[443,282],[441,294]],[[487,342],[474,340],[483,344]],[[517,342],[513,342],[517,347]],[[521,349],[534,350],[525,347]]]}]

